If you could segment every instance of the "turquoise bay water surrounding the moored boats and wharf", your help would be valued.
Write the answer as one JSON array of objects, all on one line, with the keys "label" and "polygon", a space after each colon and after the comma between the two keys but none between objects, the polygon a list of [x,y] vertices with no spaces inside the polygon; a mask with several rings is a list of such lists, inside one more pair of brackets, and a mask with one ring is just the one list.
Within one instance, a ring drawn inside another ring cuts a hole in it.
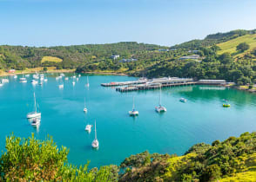
[{"label": "turquoise bay water surrounding the moored boats and wharf", "polygon": [[[71,75],[69,75],[71,76]],[[31,76],[30,76],[31,80]],[[64,81],[64,89],[57,88],[54,75],[48,75],[43,86],[33,87],[30,81],[10,83],[0,88],[0,149],[5,137],[14,133],[28,137],[35,133],[44,140],[47,134],[57,146],[70,148],[69,161],[80,165],[91,160],[91,167],[119,165],[131,154],[148,150],[150,153],[177,153],[193,144],[212,143],[229,136],[256,130],[256,95],[235,89],[208,86],[188,86],[162,89],[165,114],[157,114],[159,90],[118,93],[104,88],[102,82],[131,81],[135,78],[115,75],[90,75],[90,88],[84,88],[86,76],[75,87]],[[33,109],[33,92],[42,112],[39,129],[30,126],[26,114]],[[84,96],[88,113],[84,114]],[[132,97],[139,111],[137,118],[128,115]],[[185,97],[186,103],[179,101]],[[232,107],[222,107],[223,99]],[[91,149],[94,133],[86,133],[87,122],[97,120],[98,151]]]}]

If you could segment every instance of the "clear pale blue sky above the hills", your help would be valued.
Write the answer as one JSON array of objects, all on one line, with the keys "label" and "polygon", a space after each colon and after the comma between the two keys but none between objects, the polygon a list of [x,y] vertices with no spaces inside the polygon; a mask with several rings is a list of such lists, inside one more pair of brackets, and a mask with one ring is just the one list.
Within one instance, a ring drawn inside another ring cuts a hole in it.
[{"label": "clear pale blue sky above the hills", "polygon": [[0,0],[0,44],[171,46],[256,29],[255,0]]}]

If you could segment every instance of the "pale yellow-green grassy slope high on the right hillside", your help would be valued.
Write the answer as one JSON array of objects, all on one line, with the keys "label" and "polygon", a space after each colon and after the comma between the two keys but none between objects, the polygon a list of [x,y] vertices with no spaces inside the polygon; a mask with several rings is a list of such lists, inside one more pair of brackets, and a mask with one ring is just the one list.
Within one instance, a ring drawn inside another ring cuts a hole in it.
[{"label": "pale yellow-green grassy slope high on the right hillside", "polygon": [[[246,50],[244,53],[239,53],[236,50],[236,47],[239,43],[246,42],[250,45],[250,49]],[[246,36],[239,36],[238,38],[232,39],[227,42],[222,42],[217,44],[221,50],[218,51],[218,54],[221,55],[225,52],[231,53],[234,57],[243,56],[247,52],[256,49],[256,34],[253,35],[246,35]]]}]

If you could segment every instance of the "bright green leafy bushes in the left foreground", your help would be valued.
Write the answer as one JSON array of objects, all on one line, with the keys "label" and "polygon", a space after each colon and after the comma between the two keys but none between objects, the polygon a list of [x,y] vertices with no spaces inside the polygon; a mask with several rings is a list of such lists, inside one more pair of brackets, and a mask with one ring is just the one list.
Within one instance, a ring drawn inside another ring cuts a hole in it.
[{"label": "bright green leafy bushes in the left foreground", "polygon": [[41,141],[34,135],[6,139],[6,151],[0,159],[0,181],[117,181],[118,166],[102,166],[88,170],[84,166],[66,164],[68,150],[57,148],[50,138]]}]

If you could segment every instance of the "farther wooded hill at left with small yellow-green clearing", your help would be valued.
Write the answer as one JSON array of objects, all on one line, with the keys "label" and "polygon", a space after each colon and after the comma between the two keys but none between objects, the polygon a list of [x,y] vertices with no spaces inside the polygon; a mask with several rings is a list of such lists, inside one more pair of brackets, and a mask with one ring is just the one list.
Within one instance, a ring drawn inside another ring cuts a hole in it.
[{"label": "farther wooded hill at left with small yellow-green clearing", "polygon": [[[111,55],[129,58],[137,53],[146,53],[158,49],[165,49],[158,45],[138,42],[118,42],[109,44],[86,44],[56,47],[23,47],[0,46],[1,69],[25,69],[36,67],[77,68],[85,63],[106,61]],[[47,56],[47,59],[44,59]],[[61,62],[55,62],[55,57]]]}]

